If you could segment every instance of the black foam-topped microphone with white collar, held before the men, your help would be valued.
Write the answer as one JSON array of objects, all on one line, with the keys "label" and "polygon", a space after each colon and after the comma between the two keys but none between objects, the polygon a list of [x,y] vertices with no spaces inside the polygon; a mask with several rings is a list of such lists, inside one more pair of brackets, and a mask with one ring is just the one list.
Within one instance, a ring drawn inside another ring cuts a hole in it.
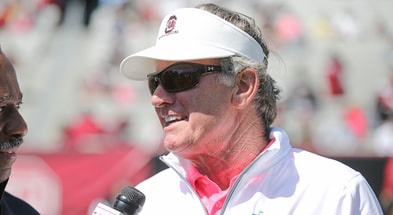
[{"label": "black foam-topped microphone with white collar, held before the men", "polygon": [[98,203],[92,215],[137,215],[145,204],[145,195],[134,187],[124,187],[116,196],[113,208]]}]

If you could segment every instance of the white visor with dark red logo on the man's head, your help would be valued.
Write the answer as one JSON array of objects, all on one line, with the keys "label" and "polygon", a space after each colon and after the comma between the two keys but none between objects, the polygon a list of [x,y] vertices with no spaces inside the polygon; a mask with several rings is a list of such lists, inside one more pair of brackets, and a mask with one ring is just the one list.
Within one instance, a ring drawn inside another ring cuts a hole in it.
[{"label": "white visor with dark red logo on the man's head", "polygon": [[240,55],[263,63],[265,54],[257,41],[220,17],[196,8],[169,13],[161,22],[156,44],[126,57],[120,72],[144,80],[156,72],[155,61],[187,61]]}]

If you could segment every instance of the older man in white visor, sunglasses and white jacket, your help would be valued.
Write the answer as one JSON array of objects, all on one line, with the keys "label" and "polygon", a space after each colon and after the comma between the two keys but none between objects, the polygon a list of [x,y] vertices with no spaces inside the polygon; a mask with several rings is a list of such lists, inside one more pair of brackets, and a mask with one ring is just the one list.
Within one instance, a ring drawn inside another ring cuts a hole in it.
[{"label": "older man in white visor, sunglasses and white jacket", "polygon": [[170,12],[120,65],[148,80],[170,167],[137,188],[141,214],[382,214],[365,178],[292,148],[272,127],[280,90],[254,20],[213,4]]}]

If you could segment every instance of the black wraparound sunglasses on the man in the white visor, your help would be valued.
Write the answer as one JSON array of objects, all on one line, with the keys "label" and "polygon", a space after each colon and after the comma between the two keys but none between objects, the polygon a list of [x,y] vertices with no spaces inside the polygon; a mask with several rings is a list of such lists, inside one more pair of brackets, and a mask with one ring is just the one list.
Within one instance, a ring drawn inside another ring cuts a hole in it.
[{"label": "black wraparound sunglasses on the man in the white visor", "polygon": [[199,84],[203,74],[221,72],[221,66],[179,62],[168,66],[161,72],[148,74],[150,93],[153,94],[158,85],[167,92],[180,92]]}]

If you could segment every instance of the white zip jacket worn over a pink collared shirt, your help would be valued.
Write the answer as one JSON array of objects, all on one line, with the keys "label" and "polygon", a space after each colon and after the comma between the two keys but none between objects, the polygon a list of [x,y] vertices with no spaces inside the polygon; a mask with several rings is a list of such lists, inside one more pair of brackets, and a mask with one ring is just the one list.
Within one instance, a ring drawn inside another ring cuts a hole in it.
[{"label": "white zip jacket worn over a pink collared shirt", "polygon": [[[288,136],[273,128],[275,142],[243,170],[221,215],[382,215],[365,180],[348,166],[292,148]],[[138,186],[146,195],[139,215],[207,214],[185,179],[190,162],[170,153],[161,159],[170,167]]]}]

